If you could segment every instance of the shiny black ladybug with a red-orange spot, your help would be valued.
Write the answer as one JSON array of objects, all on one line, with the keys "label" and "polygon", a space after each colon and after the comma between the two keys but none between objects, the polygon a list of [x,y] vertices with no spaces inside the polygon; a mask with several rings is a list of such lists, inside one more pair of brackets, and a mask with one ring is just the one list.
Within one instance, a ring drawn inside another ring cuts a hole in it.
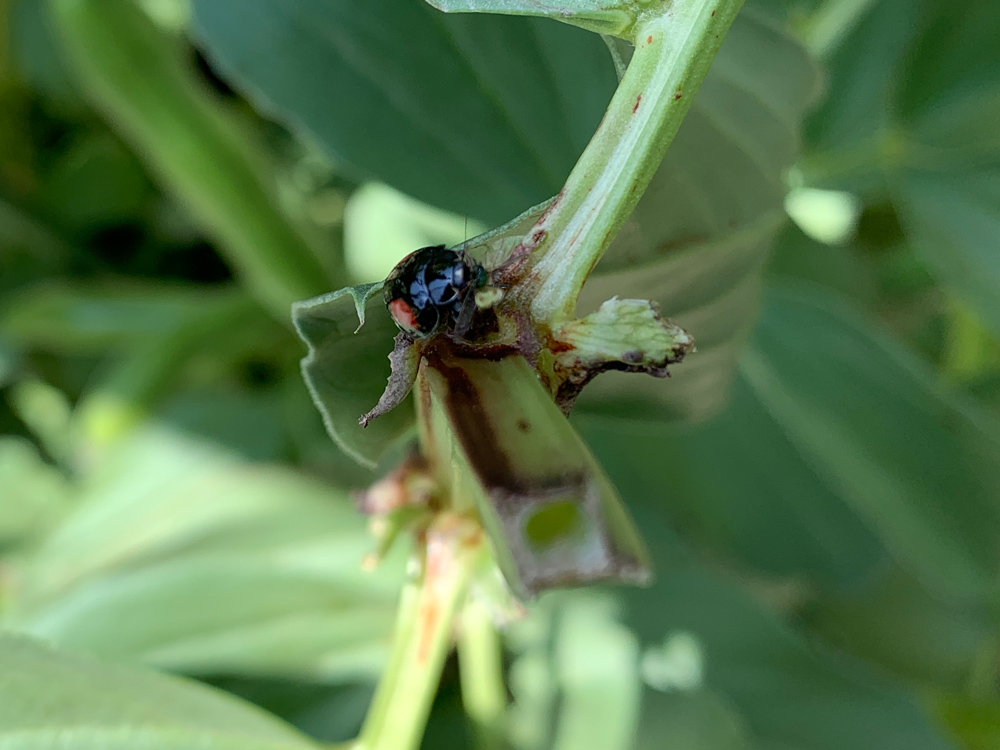
[{"label": "shiny black ladybug with a red-orange spot", "polygon": [[383,294],[401,331],[425,338],[444,329],[461,336],[476,311],[476,291],[489,274],[463,252],[444,245],[422,247],[396,264]]}]

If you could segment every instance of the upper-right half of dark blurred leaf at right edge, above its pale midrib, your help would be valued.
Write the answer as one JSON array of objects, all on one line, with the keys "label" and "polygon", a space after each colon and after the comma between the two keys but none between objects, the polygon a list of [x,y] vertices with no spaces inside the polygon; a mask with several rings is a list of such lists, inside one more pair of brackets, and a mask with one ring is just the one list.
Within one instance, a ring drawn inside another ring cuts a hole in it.
[{"label": "upper-right half of dark blurred leaf at right edge, above its pale midrib", "polygon": [[1000,562],[997,424],[849,308],[817,297],[772,294],[743,377],[805,461],[926,585],[990,590]]}]

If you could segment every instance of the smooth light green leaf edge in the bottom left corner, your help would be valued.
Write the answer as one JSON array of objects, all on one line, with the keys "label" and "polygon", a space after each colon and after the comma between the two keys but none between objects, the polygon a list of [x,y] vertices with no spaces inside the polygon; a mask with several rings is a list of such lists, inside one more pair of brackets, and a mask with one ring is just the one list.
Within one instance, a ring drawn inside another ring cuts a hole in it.
[{"label": "smooth light green leaf edge in the bottom left corner", "polygon": [[203,685],[0,636],[0,745],[18,750],[296,750],[316,747]]}]

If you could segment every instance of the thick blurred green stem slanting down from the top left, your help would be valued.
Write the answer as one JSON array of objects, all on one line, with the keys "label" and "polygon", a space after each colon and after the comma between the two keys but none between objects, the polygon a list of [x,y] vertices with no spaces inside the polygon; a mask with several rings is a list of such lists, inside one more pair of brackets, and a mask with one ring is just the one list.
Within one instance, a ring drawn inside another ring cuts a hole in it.
[{"label": "thick blurred green stem slanting down from the top left", "polygon": [[85,92],[277,319],[344,280],[339,259],[321,262],[283,214],[266,154],[197,80],[178,39],[133,0],[49,6]]}]

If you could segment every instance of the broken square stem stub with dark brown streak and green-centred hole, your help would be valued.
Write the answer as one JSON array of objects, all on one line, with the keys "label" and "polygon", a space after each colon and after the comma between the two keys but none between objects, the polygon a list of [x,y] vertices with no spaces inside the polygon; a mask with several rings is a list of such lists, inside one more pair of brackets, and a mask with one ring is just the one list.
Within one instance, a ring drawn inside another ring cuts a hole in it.
[{"label": "broken square stem stub with dark brown streak and green-centred hole", "polygon": [[518,597],[649,581],[645,546],[621,498],[523,357],[435,350],[417,383],[431,470],[456,510],[478,513]]}]

